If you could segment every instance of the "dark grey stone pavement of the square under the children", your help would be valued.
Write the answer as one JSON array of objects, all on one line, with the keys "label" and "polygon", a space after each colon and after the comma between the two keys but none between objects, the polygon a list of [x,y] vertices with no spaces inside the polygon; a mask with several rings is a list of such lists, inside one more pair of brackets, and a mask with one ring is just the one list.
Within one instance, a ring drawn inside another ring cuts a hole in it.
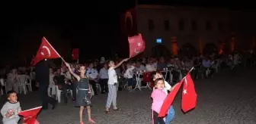
[{"label": "dark grey stone pavement of the square under the children", "polygon": [[[229,70],[221,70],[212,79],[197,79],[197,108],[189,113],[181,112],[181,92],[174,101],[175,124],[256,124],[256,73],[255,69],[240,69],[239,76],[230,76]],[[117,104],[122,110],[104,113],[107,95],[93,98],[92,116],[98,124],[149,124],[151,99],[149,89],[143,91],[119,91]],[[23,110],[40,106],[38,92],[19,95]],[[1,98],[0,105],[4,98]],[[50,106],[51,107],[51,106]],[[38,116],[41,124],[78,124],[78,108],[58,104],[55,110],[43,110]],[[87,114],[84,115],[87,123]],[[1,122],[0,122],[1,123]]]}]

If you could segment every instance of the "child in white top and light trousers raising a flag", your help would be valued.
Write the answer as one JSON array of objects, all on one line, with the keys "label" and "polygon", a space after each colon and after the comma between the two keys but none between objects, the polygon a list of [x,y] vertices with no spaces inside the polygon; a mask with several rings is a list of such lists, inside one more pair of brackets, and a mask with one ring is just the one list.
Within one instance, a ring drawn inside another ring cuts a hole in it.
[{"label": "child in white top and light trousers raising a flag", "polygon": [[115,68],[119,67],[121,64],[123,64],[124,61],[129,60],[129,58],[126,58],[122,61],[120,61],[119,64],[115,65],[113,60],[110,60],[108,66],[108,95],[107,95],[107,104],[106,104],[106,110],[105,112],[107,114],[110,114],[110,105],[113,103],[113,110],[119,110],[117,108],[117,73],[114,70]]}]

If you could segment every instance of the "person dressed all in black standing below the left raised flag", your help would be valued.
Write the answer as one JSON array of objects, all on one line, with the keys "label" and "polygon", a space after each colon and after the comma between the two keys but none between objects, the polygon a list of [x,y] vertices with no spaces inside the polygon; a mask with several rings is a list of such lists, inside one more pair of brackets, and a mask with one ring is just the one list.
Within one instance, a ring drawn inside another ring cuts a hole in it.
[{"label": "person dressed all in black standing below the left raised flag", "polygon": [[42,109],[48,109],[48,103],[52,104],[52,109],[55,108],[56,101],[53,98],[48,96],[47,90],[49,86],[49,79],[50,79],[50,70],[48,67],[47,60],[41,60],[39,63],[36,64],[35,67],[36,71],[36,82],[37,86],[39,87],[40,91],[40,100],[42,103]]}]

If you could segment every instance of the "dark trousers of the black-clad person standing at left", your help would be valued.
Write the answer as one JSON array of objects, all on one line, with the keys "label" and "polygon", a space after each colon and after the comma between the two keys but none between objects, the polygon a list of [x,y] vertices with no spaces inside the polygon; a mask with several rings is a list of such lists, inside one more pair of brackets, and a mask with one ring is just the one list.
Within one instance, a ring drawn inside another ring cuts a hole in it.
[{"label": "dark trousers of the black-clad person standing at left", "polygon": [[48,104],[52,104],[52,105],[56,104],[56,100],[48,96],[48,93],[47,93],[48,86],[40,86],[39,90],[40,90],[40,100],[41,100],[43,109],[47,109]]}]

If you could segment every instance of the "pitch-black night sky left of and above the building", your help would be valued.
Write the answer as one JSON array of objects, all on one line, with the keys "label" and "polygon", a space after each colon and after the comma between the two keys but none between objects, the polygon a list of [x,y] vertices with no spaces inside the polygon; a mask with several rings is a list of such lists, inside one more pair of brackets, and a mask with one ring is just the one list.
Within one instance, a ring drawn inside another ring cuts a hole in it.
[{"label": "pitch-black night sky left of and above the building", "polygon": [[[42,2],[3,5],[7,7],[6,9],[1,8],[2,36],[0,40],[3,57],[32,57],[33,54],[36,54],[43,36],[46,36],[46,39],[57,51],[60,51],[60,54],[65,55],[71,54],[71,50],[66,48],[67,50],[64,51],[62,45],[79,48],[80,54],[84,58],[107,57],[114,53],[119,53],[122,56],[122,54],[126,54],[123,52],[128,52],[120,51],[122,48],[118,48],[119,19],[121,13],[133,8],[135,0],[93,1],[90,3],[85,1],[85,3],[59,3],[59,5]],[[206,3],[199,0],[140,0],[138,3],[231,6],[229,2]],[[237,3],[232,2],[232,7],[238,8]]]}]

